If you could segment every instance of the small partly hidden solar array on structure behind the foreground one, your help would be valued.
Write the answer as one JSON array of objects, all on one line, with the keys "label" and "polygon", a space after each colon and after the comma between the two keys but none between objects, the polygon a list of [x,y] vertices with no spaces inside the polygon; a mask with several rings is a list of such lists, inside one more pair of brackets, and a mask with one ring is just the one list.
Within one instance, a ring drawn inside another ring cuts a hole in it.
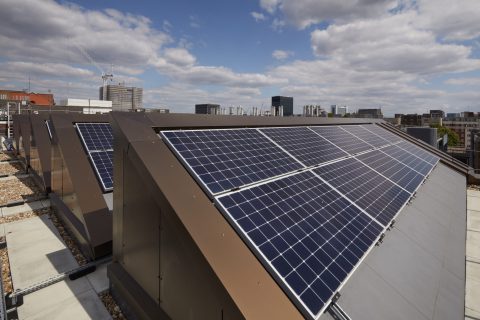
[{"label": "small partly hidden solar array on structure behind the foreground one", "polygon": [[113,190],[113,132],[110,124],[77,123],[76,127],[103,190]]}]

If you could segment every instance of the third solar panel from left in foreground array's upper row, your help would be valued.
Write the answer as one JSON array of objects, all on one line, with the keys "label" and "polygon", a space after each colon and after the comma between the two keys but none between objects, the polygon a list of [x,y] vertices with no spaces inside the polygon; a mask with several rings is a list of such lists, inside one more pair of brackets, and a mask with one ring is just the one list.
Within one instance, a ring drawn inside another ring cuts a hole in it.
[{"label": "third solar panel from left in foreground array's upper row", "polygon": [[327,139],[349,154],[355,154],[372,149],[372,146],[358,139],[340,127],[310,127],[313,131]]}]

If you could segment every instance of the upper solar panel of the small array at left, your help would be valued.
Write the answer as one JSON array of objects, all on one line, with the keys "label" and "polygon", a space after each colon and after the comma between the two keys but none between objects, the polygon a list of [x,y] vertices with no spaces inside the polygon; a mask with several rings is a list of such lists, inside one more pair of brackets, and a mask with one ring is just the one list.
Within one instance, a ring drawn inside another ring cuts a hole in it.
[{"label": "upper solar panel of the small array at left", "polygon": [[113,133],[109,123],[77,123],[87,151],[113,150]]}]

